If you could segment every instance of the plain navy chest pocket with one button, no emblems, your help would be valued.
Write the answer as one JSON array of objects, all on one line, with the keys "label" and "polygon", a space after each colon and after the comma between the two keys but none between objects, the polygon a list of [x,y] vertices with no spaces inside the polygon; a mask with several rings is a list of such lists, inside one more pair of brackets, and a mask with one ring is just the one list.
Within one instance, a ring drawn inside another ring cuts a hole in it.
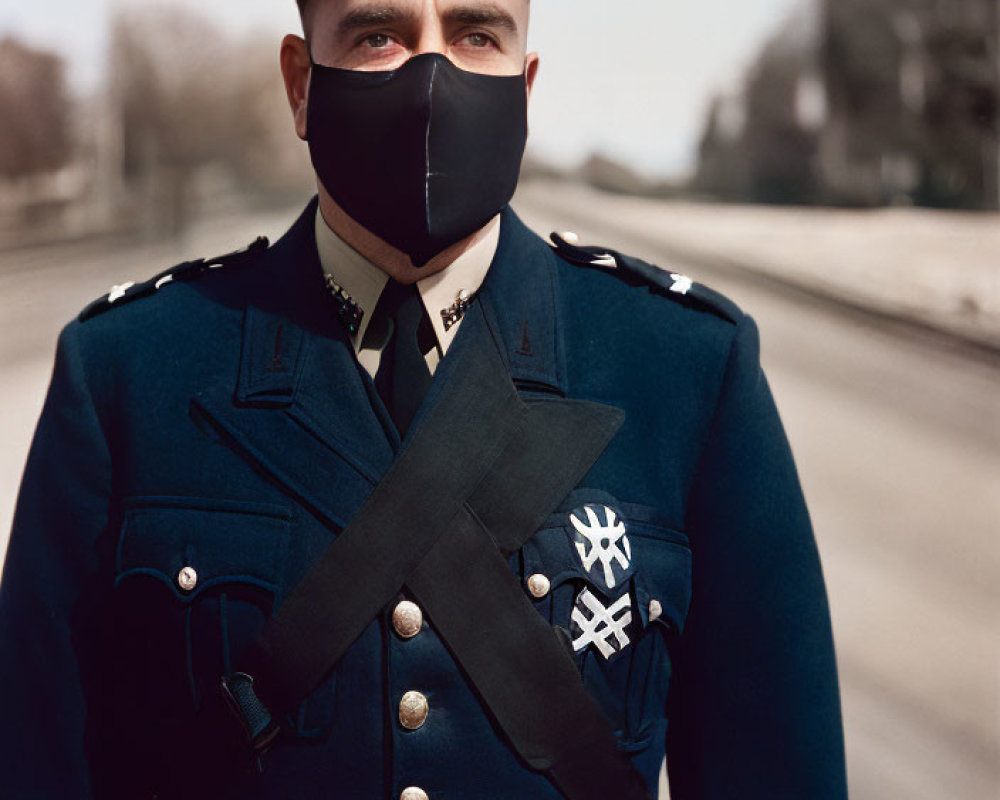
[{"label": "plain navy chest pocket with one button, no emblems", "polygon": [[115,593],[141,701],[198,710],[281,597],[290,534],[281,506],[191,497],[125,502]]}]

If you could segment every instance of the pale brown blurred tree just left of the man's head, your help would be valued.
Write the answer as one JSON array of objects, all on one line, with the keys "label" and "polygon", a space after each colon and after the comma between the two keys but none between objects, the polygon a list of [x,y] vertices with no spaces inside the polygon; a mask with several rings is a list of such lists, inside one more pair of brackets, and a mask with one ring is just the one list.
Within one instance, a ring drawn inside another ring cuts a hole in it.
[{"label": "pale brown blurred tree just left of the man's head", "polygon": [[157,230],[183,227],[209,179],[241,194],[308,187],[273,41],[231,40],[177,7],[134,7],[114,20],[110,61],[125,178],[146,192]]}]

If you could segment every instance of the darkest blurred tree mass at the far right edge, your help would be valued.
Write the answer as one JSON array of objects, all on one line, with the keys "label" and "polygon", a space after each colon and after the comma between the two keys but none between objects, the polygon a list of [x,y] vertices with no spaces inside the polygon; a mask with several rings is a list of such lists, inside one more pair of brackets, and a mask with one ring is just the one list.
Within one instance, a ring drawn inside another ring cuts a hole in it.
[{"label": "darkest blurred tree mass at the far right edge", "polygon": [[824,177],[834,194],[863,204],[996,207],[995,0],[824,5]]}]

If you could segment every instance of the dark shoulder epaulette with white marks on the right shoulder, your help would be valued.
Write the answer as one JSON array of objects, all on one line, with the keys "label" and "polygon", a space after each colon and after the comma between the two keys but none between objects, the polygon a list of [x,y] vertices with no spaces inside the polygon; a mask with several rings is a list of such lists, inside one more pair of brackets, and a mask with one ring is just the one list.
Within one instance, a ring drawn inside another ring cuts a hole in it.
[{"label": "dark shoulder epaulette with white marks on the right shoulder", "polygon": [[710,311],[733,323],[739,322],[743,317],[743,312],[736,303],[714,289],[691,280],[687,275],[671,272],[617,250],[578,245],[574,233],[553,233],[551,239],[556,253],[572,264],[628,275],[653,287],[659,294]]}]

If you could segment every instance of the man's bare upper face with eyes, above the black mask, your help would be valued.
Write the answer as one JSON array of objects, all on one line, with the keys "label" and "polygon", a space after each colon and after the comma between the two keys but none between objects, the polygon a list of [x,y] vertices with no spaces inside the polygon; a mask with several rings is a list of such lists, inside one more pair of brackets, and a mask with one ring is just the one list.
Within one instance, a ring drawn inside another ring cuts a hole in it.
[{"label": "man's bare upper face with eyes, above the black mask", "polygon": [[313,59],[342,69],[390,70],[442,53],[470,72],[519,75],[529,0],[311,0],[304,20]]}]

